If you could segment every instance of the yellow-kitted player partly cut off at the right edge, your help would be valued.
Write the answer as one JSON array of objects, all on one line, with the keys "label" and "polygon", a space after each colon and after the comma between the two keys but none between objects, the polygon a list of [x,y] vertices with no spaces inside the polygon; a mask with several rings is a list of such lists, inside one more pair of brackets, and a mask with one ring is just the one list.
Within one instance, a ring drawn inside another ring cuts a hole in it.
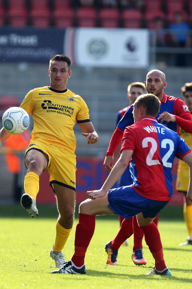
[{"label": "yellow-kitted player partly cut off at the right edge", "polygon": [[[182,96],[184,102],[187,104],[189,111],[192,114],[192,83],[185,83],[184,86],[181,88]],[[184,141],[187,143],[189,147],[192,148],[192,134],[187,133],[183,129],[180,128],[179,135]],[[192,202],[187,198],[187,189],[189,185],[189,166],[179,160],[178,164],[178,178],[176,182],[176,189],[179,192],[183,193],[183,214],[184,220],[187,225],[187,231],[189,233],[189,237],[186,242],[180,243],[180,246],[187,246],[192,245]]]}]

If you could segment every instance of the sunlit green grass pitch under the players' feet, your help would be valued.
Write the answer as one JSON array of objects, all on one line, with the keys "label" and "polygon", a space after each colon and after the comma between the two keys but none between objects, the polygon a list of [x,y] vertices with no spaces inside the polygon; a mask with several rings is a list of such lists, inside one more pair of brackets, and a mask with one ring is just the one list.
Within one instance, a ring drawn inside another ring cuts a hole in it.
[{"label": "sunlit green grass pitch under the players' feet", "polygon": [[[38,206],[40,216],[28,217],[20,206],[1,207],[0,215],[0,288],[191,288],[192,248],[178,244],[187,238],[182,220],[182,208],[167,207],[158,225],[165,261],[172,276],[146,276],[154,267],[154,259],[143,241],[146,266],[135,266],[131,260],[132,237],[129,246],[121,246],[118,266],[106,266],[104,245],[119,230],[117,216],[97,217],[95,235],[86,253],[86,275],[51,275],[55,269],[49,251],[55,238],[57,211],[53,206]],[[170,215],[168,215],[168,212]],[[51,217],[49,217],[49,215]],[[77,218],[75,218],[77,224]],[[66,259],[74,251],[75,226],[65,246]]]}]

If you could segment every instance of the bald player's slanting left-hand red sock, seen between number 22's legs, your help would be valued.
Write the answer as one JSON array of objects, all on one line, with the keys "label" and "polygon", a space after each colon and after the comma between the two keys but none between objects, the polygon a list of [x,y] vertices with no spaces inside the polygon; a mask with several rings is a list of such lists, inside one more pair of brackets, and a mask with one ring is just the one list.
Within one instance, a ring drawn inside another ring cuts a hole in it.
[{"label": "bald player's slanting left-hand red sock, seen between number 22's legs", "polygon": [[129,220],[124,219],[121,223],[121,228],[117,233],[115,239],[110,243],[110,248],[119,250],[123,242],[126,241],[132,235],[132,217]]}]

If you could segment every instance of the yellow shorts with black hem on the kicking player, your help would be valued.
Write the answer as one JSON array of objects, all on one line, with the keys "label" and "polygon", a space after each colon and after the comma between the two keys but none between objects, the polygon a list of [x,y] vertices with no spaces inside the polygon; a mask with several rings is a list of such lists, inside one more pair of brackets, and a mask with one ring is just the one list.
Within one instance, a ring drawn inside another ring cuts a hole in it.
[{"label": "yellow shorts with black hem on the kicking player", "polygon": [[[60,184],[75,191],[76,189],[76,156],[67,147],[56,147],[56,145],[45,144],[39,140],[32,140],[25,151],[37,149],[47,155],[47,168],[49,170],[49,182],[53,189],[53,184]],[[53,189],[54,191],[54,189]]]}]

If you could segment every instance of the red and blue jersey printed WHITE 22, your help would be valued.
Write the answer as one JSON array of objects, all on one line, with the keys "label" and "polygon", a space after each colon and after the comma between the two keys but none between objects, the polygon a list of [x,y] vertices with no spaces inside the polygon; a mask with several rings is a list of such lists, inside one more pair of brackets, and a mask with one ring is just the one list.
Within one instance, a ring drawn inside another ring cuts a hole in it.
[{"label": "red and blue jersey printed WHITE 22", "polygon": [[169,201],[173,160],[191,152],[178,133],[146,117],[125,128],[121,152],[124,150],[134,151],[130,163],[134,190],[151,200]]}]

